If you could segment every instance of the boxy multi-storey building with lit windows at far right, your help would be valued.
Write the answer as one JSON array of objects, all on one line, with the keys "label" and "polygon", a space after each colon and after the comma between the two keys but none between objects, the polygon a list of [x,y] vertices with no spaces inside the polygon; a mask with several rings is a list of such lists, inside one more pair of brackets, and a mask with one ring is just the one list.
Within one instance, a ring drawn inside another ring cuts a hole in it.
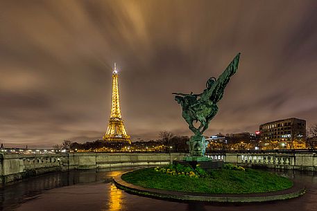
[{"label": "boxy multi-storey building with lit windows at far right", "polygon": [[260,140],[264,143],[277,143],[274,148],[286,148],[287,146],[294,148],[294,140],[298,143],[305,143],[306,120],[300,120],[298,118],[276,120],[260,125],[259,131]]}]

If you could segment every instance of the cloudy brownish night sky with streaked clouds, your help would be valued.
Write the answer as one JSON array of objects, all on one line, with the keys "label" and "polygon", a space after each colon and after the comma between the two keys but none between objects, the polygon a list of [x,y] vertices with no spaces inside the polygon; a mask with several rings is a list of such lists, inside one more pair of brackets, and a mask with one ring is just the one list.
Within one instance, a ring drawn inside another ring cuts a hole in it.
[{"label": "cloudy brownish night sky with streaked clouds", "polygon": [[0,1],[0,143],[101,138],[112,66],[132,140],[191,135],[173,92],[200,93],[237,53],[205,131],[317,123],[317,1]]}]

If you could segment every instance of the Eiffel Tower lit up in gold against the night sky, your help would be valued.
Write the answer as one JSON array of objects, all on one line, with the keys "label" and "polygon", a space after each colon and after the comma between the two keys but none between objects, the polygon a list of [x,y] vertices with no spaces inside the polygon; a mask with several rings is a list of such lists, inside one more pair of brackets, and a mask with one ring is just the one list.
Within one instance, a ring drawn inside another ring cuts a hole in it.
[{"label": "Eiffel Tower lit up in gold against the night sky", "polygon": [[112,72],[112,104],[110,120],[105,136],[103,136],[103,140],[110,142],[131,143],[130,136],[126,134],[126,129],[124,128],[121,117],[118,77],[117,66],[116,63],[114,63],[114,71]]}]

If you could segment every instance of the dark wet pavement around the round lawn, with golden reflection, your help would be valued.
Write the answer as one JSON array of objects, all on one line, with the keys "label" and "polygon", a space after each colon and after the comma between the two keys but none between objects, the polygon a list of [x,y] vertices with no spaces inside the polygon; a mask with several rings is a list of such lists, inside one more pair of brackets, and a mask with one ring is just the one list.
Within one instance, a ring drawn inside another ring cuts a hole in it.
[{"label": "dark wet pavement around the round lawn, with golden reflection", "polygon": [[55,172],[0,189],[0,210],[17,211],[119,211],[119,210],[317,210],[317,175],[278,172],[305,184],[307,193],[297,199],[270,203],[204,204],[162,201],[128,194],[117,189],[111,178],[127,169]]}]

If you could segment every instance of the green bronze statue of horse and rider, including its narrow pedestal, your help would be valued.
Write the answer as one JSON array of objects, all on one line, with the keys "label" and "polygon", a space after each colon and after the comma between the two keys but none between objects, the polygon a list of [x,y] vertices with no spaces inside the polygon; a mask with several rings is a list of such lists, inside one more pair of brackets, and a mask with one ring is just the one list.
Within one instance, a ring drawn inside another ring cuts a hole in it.
[{"label": "green bronze statue of horse and rider, including its narrow pedestal", "polygon": [[[189,129],[195,134],[189,140],[191,156],[203,156],[205,154],[207,143],[203,132],[208,128],[210,120],[216,116],[218,111],[217,102],[223,97],[225,86],[227,86],[230,77],[237,71],[239,58],[240,53],[234,57],[217,80],[215,77],[210,77],[203,93],[173,93],[175,100],[182,106],[182,117],[188,123]],[[198,128],[194,127],[194,121],[200,122]]]}]

